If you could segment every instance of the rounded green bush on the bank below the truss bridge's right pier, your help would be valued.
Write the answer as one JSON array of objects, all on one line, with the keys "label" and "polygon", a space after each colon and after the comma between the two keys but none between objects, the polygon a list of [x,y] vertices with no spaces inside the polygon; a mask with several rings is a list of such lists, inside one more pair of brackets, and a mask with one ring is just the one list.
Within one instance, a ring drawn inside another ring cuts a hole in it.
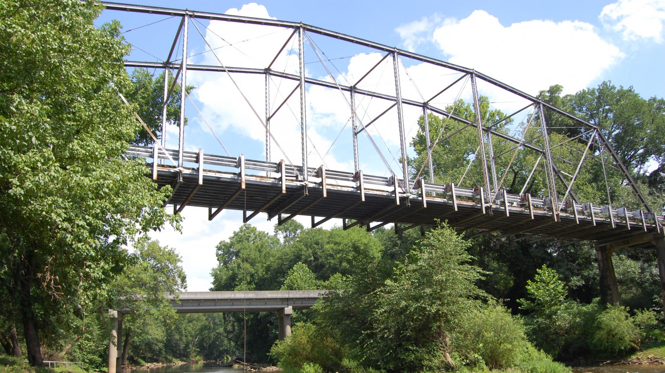
[{"label": "rounded green bush on the bank below the truss bridge's right pier", "polygon": [[634,324],[626,307],[610,305],[600,312],[594,324],[589,346],[595,352],[626,353],[640,348],[640,328]]}]

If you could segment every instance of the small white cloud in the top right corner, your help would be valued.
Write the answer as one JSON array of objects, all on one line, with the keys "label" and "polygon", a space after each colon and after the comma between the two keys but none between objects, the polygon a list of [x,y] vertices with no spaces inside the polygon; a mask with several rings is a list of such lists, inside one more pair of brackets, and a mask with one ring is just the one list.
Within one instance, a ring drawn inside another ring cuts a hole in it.
[{"label": "small white cloud in the top right corner", "polygon": [[600,21],[620,32],[624,40],[653,39],[662,43],[665,0],[619,0],[602,8]]}]

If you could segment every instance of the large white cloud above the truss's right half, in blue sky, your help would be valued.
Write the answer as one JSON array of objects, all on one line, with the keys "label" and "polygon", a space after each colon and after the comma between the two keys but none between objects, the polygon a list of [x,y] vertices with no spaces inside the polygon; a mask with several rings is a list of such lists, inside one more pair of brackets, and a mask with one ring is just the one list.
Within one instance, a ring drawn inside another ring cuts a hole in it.
[{"label": "large white cloud above the truss's right half, in blue sky", "polygon": [[448,61],[475,68],[529,94],[552,84],[576,92],[624,54],[579,21],[525,21],[505,27],[485,11],[446,20],[433,34]]}]

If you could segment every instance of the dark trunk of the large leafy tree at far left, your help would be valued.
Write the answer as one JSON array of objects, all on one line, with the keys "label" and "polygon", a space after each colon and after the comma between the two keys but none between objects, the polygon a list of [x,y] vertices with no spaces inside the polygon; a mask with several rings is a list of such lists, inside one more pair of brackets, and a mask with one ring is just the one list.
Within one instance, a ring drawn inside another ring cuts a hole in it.
[{"label": "dark trunk of the large leafy tree at far left", "polygon": [[27,253],[26,257],[19,265],[19,305],[21,307],[21,315],[23,316],[23,336],[25,337],[25,346],[28,351],[28,361],[32,366],[41,366],[44,362],[41,354],[41,346],[39,345],[39,332],[37,330],[37,318],[33,311],[33,299],[31,293],[31,285],[33,279],[33,253]]}]

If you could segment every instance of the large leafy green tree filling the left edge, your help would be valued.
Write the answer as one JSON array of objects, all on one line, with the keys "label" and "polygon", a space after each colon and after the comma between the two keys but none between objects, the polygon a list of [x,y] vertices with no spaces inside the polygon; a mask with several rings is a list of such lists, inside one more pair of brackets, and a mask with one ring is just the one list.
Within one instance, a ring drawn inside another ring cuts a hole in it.
[{"label": "large leafy green tree filling the left edge", "polygon": [[[120,154],[138,123],[118,23],[75,0],[0,5],[0,281],[21,315],[31,364],[39,325],[106,292],[137,233],[177,216],[140,161]],[[113,83],[113,84],[111,84]],[[39,305],[39,307],[36,307]]]}]

